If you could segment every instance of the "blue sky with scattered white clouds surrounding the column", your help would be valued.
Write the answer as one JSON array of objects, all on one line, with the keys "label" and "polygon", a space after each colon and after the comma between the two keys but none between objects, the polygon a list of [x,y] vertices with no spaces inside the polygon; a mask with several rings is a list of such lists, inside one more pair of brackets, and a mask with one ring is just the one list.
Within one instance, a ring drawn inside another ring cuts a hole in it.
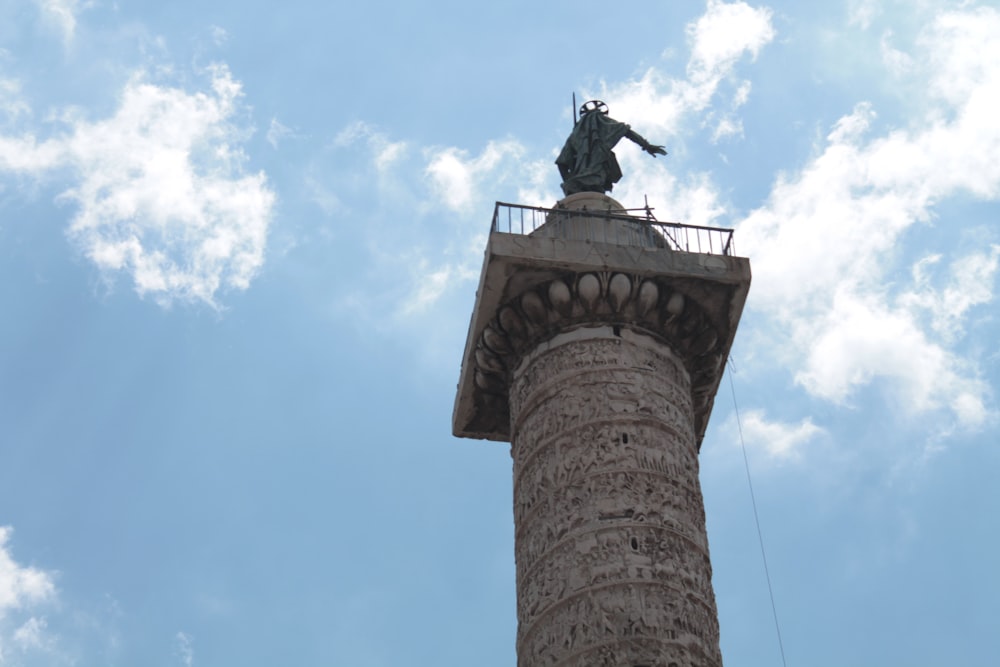
[{"label": "blue sky with scattered white clouds surrounding the column", "polygon": [[513,664],[451,409],[573,92],[670,151],[619,201],[751,259],[727,664],[781,663],[735,405],[787,664],[995,664],[1000,8],[209,4],[0,2],[0,665]]}]

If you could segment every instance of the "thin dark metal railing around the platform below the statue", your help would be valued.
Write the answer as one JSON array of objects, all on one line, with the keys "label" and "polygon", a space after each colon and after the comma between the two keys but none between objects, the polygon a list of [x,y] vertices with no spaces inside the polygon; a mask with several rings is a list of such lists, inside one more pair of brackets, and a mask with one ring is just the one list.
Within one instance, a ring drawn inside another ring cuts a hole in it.
[{"label": "thin dark metal railing around the platform below the statue", "polygon": [[660,222],[648,207],[630,210],[642,211],[643,215],[497,202],[490,229],[506,234],[669,248],[709,255],[734,255],[736,252],[731,229]]}]

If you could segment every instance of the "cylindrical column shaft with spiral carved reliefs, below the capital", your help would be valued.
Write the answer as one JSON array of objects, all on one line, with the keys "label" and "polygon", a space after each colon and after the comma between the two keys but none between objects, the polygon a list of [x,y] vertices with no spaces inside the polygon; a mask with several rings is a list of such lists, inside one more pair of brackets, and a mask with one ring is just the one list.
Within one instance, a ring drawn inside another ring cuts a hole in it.
[{"label": "cylindrical column shaft with spiral carved reliefs, below the capital", "polygon": [[716,667],[691,382],[613,326],[527,353],[510,391],[519,667]]}]

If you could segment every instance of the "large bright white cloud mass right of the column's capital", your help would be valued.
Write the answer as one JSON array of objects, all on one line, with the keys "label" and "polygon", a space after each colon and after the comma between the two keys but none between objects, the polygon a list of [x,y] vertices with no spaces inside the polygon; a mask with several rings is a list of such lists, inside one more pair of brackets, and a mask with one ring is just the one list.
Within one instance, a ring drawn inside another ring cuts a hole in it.
[{"label": "large bright white cloud mass right of the column's capital", "polygon": [[904,232],[932,220],[938,202],[1000,197],[998,32],[995,10],[938,17],[910,56],[932,82],[914,105],[925,117],[869,139],[875,113],[858,104],[739,224],[741,251],[754,261],[750,306],[787,332],[778,345],[790,345],[796,379],[812,394],[842,402],[885,378],[912,410],[946,407],[969,426],[986,418],[988,387],[949,343],[972,307],[992,301],[996,249],[955,262],[944,288],[924,277],[933,259],[918,262],[912,288],[889,276]]}]

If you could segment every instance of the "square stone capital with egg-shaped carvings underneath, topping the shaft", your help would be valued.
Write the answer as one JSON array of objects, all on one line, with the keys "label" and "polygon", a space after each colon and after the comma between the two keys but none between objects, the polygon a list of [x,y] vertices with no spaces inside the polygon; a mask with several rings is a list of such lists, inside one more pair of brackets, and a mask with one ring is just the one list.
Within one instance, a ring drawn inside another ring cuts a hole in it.
[{"label": "square stone capital with egg-shaped carvings underneath, topping the shaft", "polygon": [[506,392],[520,356],[561,331],[611,324],[657,337],[685,361],[700,446],[749,290],[749,260],[570,240],[539,234],[543,229],[490,234],[453,433],[508,441]]}]

